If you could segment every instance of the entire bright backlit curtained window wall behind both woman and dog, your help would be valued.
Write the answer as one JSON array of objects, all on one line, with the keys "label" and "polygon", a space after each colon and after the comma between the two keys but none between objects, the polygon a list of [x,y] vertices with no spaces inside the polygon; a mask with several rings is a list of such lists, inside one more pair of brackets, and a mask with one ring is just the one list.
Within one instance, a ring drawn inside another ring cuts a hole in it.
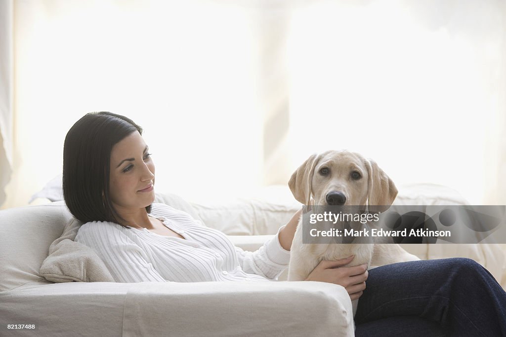
[{"label": "entire bright backlit curtained window wall behind both woman and dog", "polygon": [[349,149],[398,183],[506,204],[502,2],[25,0],[12,13],[4,208],[61,172],[65,134],[90,111],[142,125],[157,190],[193,200],[286,185],[311,153]]}]

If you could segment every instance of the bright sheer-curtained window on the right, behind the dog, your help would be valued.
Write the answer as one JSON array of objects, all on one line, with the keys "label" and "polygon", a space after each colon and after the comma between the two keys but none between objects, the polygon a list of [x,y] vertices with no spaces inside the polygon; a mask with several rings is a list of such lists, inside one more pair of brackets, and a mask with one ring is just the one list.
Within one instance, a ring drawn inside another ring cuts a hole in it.
[{"label": "bright sheer-curtained window on the right, behind the dog", "polygon": [[297,161],[355,150],[398,183],[506,203],[504,2],[316,2],[290,34]]}]

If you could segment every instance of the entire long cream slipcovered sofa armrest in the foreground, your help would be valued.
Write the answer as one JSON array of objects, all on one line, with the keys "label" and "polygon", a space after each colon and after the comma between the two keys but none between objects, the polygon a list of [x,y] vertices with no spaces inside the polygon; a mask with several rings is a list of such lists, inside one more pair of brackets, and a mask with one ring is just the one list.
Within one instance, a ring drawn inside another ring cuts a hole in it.
[{"label": "entire long cream slipcovered sofa armrest in the foreground", "polygon": [[22,336],[354,333],[346,290],[324,282],[34,282],[0,303],[1,329],[35,325]]}]

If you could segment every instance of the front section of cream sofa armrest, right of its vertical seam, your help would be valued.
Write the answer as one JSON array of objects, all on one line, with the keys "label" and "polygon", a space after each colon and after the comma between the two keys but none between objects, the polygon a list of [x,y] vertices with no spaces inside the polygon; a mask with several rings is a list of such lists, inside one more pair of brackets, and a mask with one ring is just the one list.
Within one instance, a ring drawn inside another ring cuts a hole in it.
[{"label": "front section of cream sofa armrest, right of its vertical seam", "polygon": [[346,290],[324,282],[138,283],[123,335],[354,335]]}]

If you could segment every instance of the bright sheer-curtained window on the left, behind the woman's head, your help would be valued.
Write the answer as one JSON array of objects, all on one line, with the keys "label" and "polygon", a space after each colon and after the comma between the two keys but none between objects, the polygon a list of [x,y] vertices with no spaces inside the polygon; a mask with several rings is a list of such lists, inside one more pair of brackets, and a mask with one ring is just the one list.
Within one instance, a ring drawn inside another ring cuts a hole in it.
[{"label": "bright sheer-curtained window on the left, behind the woman's head", "polygon": [[212,196],[260,184],[261,79],[248,11],[199,0],[16,2],[22,160],[10,205],[61,172],[66,132],[92,111],[145,129],[158,191]]}]

